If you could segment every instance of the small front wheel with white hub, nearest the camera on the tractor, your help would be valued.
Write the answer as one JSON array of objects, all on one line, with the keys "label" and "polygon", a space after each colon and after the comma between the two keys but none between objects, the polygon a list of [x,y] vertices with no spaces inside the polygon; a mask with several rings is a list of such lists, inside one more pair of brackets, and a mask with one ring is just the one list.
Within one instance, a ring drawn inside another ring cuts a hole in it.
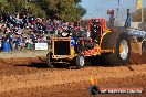
[{"label": "small front wheel with white hub, nearest the camera on the tractor", "polygon": [[80,68],[83,68],[85,65],[85,57],[83,54],[79,54],[76,56],[76,68],[80,69]]}]

